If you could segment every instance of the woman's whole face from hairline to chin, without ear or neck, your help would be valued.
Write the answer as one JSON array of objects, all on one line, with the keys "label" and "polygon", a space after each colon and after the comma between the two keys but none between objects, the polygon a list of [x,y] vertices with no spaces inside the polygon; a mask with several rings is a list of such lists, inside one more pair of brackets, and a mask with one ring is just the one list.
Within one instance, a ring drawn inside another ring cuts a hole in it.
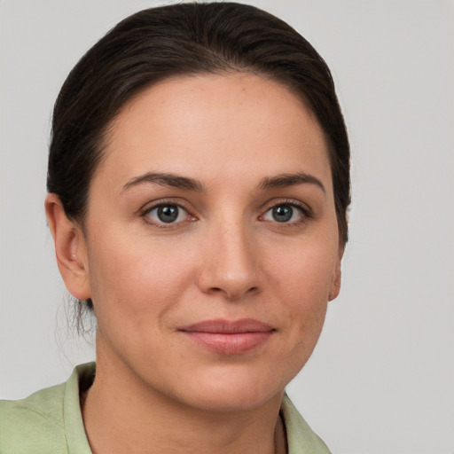
[{"label": "woman's whole face from hairline to chin, without ear or neck", "polygon": [[265,403],[339,291],[324,134],[252,74],[160,82],[110,129],[80,247],[110,372],[192,407]]}]

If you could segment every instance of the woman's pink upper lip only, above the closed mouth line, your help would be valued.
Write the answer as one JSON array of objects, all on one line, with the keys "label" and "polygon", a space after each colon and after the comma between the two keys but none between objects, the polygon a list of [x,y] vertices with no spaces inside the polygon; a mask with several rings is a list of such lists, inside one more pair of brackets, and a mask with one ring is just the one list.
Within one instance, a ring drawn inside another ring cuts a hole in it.
[{"label": "woman's pink upper lip only, above the closed mouth line", "polygon": [[186,325],[179,328],[179,331],[187,333],[267,333],[274,331],[274,328],[266,323],[254,320],[254,318],[242,318],[240,320],[204,320],[202,322]]}]

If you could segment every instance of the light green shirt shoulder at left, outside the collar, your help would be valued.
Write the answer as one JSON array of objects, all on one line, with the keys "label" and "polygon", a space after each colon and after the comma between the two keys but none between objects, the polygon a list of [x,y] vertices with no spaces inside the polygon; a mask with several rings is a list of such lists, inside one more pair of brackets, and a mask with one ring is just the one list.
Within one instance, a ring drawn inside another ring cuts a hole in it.
[{"label": "light green shirt shoulder at left, outside the collar", "polygon": [[66,446],[64,394],[63,384],[19,401],[0,401],[0,452],[58,452]]}]

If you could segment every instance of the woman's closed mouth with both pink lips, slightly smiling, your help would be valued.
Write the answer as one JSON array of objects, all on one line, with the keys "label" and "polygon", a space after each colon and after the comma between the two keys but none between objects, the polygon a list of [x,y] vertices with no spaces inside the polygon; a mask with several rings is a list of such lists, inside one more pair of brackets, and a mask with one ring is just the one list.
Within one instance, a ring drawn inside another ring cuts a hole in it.
[{"label": "woman's closed mouth with both pink lips, slightly smiling", "polygon": [[201,347],[223,355],[240,355],[259,348],[276,332],[272,326],[252,318],[206,320],[178,331]]}]

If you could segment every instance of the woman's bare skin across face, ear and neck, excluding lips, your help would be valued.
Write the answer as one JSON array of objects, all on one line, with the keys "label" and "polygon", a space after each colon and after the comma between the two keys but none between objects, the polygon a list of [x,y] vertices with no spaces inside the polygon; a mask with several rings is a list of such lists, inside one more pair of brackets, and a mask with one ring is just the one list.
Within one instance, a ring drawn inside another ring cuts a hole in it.
[{"label": "woman's bare skin across face, ear and neck, excluding lips", "polygon": [[[82,409],[92,450],[284,452],[284,389],[340,290],[322,129],[276,82],[203,74],[145,90],[109,131],[83,231],[55,194],[46,200],[67,289],[90,297],[98,318]],[[148,172],[198,187],[131,183]],[[312,179],[263,184],[296,173]],[[176,222],[161,222],[157,204],[182,207]],[[288,222],[275,205],[293,209]],[[219,318],[253,318],[272,333],[228,354],[180,330]]]}]

